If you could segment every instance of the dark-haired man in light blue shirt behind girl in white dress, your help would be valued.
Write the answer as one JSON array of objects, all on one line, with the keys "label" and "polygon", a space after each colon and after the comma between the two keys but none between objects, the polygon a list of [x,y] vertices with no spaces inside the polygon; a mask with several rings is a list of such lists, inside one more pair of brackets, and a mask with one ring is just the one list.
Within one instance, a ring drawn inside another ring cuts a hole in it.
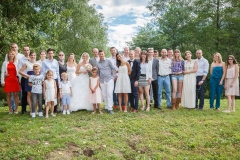
[{"label": "dark-haired man in light blue shirt behind girl in white dress", "polygon": [[[56,81],[56,85],[57,85],[57,93],[59,92],[59,84],[60,84],[60,76],[59,76],[59,64],[58,61],[56,59],[53,59],[54,57],[54,50],[49,48],[47,50],[47,54],[48,54],[48,59],[46,59],[45,61],[42,62],[42,68],[41,68],[41,74],[43,76],[46,75],[46,72],[48,70],[52,70],[53,71],[53,79]],[[58,94],[57,94],[58,95]],[[54,112],[57,112],[57,104],[54,104]]]}]

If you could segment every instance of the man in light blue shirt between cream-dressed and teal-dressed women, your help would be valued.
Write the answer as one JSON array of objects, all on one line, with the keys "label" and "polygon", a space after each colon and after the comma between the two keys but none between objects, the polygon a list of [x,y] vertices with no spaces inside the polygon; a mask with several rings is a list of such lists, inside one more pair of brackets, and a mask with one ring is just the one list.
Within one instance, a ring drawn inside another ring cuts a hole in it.
[{"label": "man in light blue shirt between cream-dressed and teal-dressed women", "polygon": [[[198,69],[196,72],[196,108],[199,110],[203,109],[204,106],[204,86],[206,84],[206,78],[209,70],[209,63],[208,60],[206,60],[202,56],[202,50],[196,51],[196,62],[198,64]],[[198,98],[199,97],[199,98]],[[198,104],[198,99],[200,99],[200,103]]]}]

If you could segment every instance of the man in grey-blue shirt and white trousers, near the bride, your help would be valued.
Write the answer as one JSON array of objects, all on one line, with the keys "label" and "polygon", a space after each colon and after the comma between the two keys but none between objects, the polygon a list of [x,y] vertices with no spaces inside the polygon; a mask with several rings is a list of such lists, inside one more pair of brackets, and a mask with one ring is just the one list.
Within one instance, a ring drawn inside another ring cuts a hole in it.
[{"label": "man in grey-blue shirt and white trousers, near the bride", "polygon": [[99,62],[97,63],[98,75],[100,77],[100,86],[102,89],[102,96],[105,102],[105,110],[110,114],[113,112],[113,89],[114,89],[114,77],[116,69],[112,65],[112,62],[105,58],[104,51],[99,50]]}]

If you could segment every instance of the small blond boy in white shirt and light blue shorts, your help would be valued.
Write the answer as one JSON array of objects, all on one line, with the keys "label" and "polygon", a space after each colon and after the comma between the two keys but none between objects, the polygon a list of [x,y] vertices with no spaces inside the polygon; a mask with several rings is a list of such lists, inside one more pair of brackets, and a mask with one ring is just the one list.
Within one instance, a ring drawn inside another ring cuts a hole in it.
[{"label": "small blond boy in white shirt and light blue shorts", "polygon": [[60,82],[60,98],[62,98],[63,105],[63,114],[70,114],[69,105],[70,105],[70,96],[72,97],[72,85],[68,81],[68,74],[63,72],[61,74],[62,81]]}]

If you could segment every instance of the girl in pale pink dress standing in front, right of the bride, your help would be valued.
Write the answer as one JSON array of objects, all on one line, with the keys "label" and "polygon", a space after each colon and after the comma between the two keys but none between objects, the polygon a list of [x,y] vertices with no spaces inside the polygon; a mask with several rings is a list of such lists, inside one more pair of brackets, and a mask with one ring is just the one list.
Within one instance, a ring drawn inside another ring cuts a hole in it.
[{"label": "girl in pale pink dress standing in front, right of the bride", "polygon": [[100,103],[102,102],[101,90],[99,88],[100,78],[97,76],[97,73],[98,73],[98,69],[94,67],[92,69],[92,77],[89,78],[90,92],[89,92],[88,100],[90,103],[93,104],[94,111],[92,112],[92,114],[96,113],[96,107],[98,107],[99,113],[102,114],[101,107],[100,107]]}]

